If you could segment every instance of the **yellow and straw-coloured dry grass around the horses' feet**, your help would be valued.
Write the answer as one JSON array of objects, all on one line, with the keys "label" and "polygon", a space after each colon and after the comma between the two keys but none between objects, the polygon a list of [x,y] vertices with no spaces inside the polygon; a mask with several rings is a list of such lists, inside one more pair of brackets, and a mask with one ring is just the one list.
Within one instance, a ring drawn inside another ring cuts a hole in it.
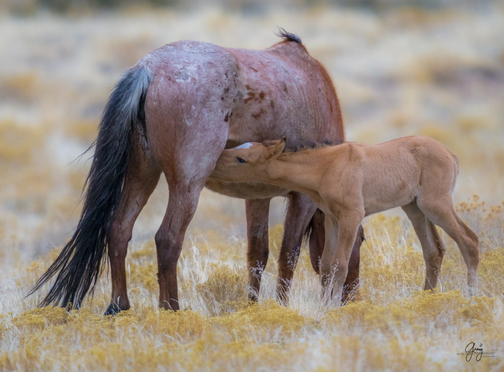
[{"label": "yellow and straw-coloured dry grass around the horses' feet", "polygon": [[[0,317],[0,366],[4,369],[501,369],[504,340],[504,227],[502,208],[488,217],[480,204],[461,204],[480,225],[480,295],[466,298],[465,264],[453,242],[435,293],[421,291],[423,258],[412,229],[397,217],[366,220],[362,246],[362,300],[338,309],[321,305],[320,284],[303,249],[291,303],[272,299],[269,270],[259,304],[245,293],[243,242],[218,233],[186,239],[178,265],[182,310],[156,309],[156,261],[152,241],[133,244],[127,258],[133,308],[101,315],[109,283],[102,279],[93,301],[70,313],[34,308],[42,293],[21,300],[57,249],[20,270],[14,293],[2,303],[15,308]],[[469,208],[469,210],[467,210]],[[498,209],[498,210],[497,210]],[[476,227],[473,226],[476,229]],[[280,243],[281,226],[271,245]],[[484,232],[484,234],[483,234]],[[198,247],[193,245],[197,242]],[[237,247],[238,245],[238,247]],[[271,263],[269,263],[271,269]],[[273,267],[275,266],[273,262]],[[495,357],[466,362],[471,342]]]}]

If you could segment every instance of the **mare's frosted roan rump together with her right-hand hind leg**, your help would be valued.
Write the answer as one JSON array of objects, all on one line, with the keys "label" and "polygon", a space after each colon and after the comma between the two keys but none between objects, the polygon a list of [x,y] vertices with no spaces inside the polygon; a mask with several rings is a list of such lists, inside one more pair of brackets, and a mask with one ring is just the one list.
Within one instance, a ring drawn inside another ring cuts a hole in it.
[{"label": "mare's frosted roan rump together with her right-hand hind leg", "polygon": [[[170,65],[155,70],[145,102],[148,143],[169,188],[166,213],[155,236],[159,305],[166,309],[179,308],[177,260],[201,190],[224,149],[236,91],[225,77],[233,76],[235,67],[222,49],[182,44],[172,50],[176,54],[168,51],[165,58]],[[194,65],[184,65],[185,60]]]}]

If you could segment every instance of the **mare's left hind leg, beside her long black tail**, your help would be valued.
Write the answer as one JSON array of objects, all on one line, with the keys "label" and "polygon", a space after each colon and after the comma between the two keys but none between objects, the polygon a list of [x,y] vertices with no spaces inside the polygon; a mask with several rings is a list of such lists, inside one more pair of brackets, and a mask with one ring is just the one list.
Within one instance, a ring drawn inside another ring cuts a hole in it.
[{"label": "mare's left hind leg, beside her long black tail", "polygon": [[128,165],[128,173],[114,221],[108,233],[108,259],[112,280],[112,299],[105,315],[115,314],[130,308],[128,299],[125,258],[132,230],[140,211],[156,188],[161,169],[148,149],[143,147],[143,139],[136,136],[134,152]]}]

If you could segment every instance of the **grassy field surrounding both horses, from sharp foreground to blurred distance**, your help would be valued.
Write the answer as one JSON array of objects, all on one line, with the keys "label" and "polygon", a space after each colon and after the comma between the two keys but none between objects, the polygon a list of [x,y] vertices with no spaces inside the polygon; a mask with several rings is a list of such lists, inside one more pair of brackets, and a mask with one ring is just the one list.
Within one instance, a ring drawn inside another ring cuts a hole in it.
[{"label": "grassy field surrounding both horses, from sharp foreground to blurred distance", "polygon": [[[504,369],[504,7],[380,12],[317,6],[230,12],[128,9],[19,18],[0,12],[0,369]],[[94,139],[122,71],[179,39],[264,48],[276,25],[297,33],[329,70],[348,140],[432,136],[460,158],[455,201],[478,234],[479,294],[446,234],[435,293],[400,210],[365,220],[361,298],[320,303],[302,248],[288,307],[275,302],[283,201],[272,208],[259,304],[246,302],[243,201],[204,191],[178,264],[183,310],[157,309],[153,237],[168,192],[161,181],[127,258],[132,309],[102,317],[106,269],[79,311],[24,299],[75,227]],[[473,196],[474,195],[474,196]],[[395,215],[399,215],[396,217]],[[484,355],[466,361],[466,345]]]}]

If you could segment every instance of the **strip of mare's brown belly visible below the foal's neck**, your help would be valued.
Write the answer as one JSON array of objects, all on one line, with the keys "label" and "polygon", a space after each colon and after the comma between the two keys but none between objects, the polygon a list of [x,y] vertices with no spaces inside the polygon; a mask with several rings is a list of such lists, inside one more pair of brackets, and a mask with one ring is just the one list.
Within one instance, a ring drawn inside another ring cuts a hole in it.
[{"label": "strip of mare's brown belly visible below the foal's neck", "polygon": [[227,182],[216,178],[209,178],[205,186],[219,194],[241,199],[271,198],[284,196],[289,192],[288,189],[260,182]]}]

